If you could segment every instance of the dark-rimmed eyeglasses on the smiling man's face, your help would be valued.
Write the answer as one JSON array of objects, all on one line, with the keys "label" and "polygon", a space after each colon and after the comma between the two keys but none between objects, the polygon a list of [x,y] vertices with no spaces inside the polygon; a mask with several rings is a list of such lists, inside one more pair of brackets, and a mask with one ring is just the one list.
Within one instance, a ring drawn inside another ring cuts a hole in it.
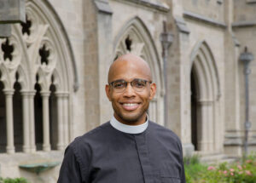
[{"label": "dark-rimmed eyeglasses on the smiling man's face", "polygon": [[131,83],[132,89],[134,89],[137,92],[141,92],[143,91],[143,89],[146,88],[147,83],[152,82],[144,79],[133,79],[131,82],[126,82],[123,79],[119,79],[109,83],[109,85],[112,86],[114,92],[121,93],[125,91],[128,83]]}]

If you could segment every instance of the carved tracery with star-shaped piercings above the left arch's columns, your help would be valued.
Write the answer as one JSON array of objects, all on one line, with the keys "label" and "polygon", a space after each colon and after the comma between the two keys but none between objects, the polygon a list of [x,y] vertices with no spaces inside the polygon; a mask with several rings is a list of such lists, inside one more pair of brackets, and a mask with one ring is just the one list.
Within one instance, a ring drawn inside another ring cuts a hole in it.
[{"label": "carved tracery with star-shaped piercings above the left arch's columns", "polygon": [[[32,3],[27,3],[26,23],[13,26],[11,37],[0,39],[0,70],[4,89],[13,89],[18,72],[22,90],[33,90],[38,75],[41,90],[49,91],[58,60],[56,43],[52,41],[49,27],[49,23],[38,16]],[[60,74],[55,73],[57,76],[60,77]],[[61,89],[60,84],[58,89]]]}]

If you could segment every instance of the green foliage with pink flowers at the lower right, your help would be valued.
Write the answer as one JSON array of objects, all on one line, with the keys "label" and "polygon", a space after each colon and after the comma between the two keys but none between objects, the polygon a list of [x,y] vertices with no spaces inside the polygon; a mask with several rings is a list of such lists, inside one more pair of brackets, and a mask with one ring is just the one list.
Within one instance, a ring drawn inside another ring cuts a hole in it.
[{"label": "green foliage with pink flowers at the lower right", "polygon": [[[256,182],[256,153],[241,159],[236,163],[221,163],[217,166],[188,163],[185,174],[188,183],[255,183]],[[191,161],[190,161],[191,162]]]}]

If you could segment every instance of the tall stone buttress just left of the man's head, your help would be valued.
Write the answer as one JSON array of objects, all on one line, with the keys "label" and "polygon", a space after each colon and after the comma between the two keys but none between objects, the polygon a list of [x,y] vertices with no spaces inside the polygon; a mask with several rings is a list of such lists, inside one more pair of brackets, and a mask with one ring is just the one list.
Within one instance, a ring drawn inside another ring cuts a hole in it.
[{"label": "tall stone buttress just left of the man's head", "polygon": [[[96,117],[99,117],[100,123],[105,123],[108,119],[112,116],[112,112],[109,110],[110,103],[108,102],[108,98],[105,94],[105,89],[102,86],[105,86],[107,83],[107,76],[108,76],[108,68],[113,62],[112,53],[113,47],[112,43],[112,14],[113,11],[110,7],[109,1],[107,0],[96,0],[94,1],[96,4],[96,27],[97,27],[97,49],[98,49],[98,88],[99,90],[99,97],[96,106],[99,106],[98,114],[96,113]],[[89,104],[90,107],[90,104]],[[95,111],[95,108],[92,109]],[[97,119],[96,119],[97,120]],[[95,120],[95,121],[96,121]],[[90,122],[92,123],[92,122]],[[99,125],[98,122],[93,122],[94,126]]]}]

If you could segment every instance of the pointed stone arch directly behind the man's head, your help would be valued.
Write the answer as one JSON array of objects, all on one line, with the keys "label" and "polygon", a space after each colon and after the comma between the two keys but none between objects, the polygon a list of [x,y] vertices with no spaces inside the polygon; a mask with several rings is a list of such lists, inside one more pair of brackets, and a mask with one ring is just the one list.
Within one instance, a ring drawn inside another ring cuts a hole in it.
[{"label": "pointed stone arch directly behind the man's head", "polygon": [[164,78],[162,72],[162,62],[155,48],[154,40],[148,31],[147,26],[138,17],[128,20],[119,30],[119,34],[114,39],[114,58],[121,54],[136,54],[148,62],[152,71],[154,83],[157,84],[158,92],[149,106],[150,120],[164,124]]}]

